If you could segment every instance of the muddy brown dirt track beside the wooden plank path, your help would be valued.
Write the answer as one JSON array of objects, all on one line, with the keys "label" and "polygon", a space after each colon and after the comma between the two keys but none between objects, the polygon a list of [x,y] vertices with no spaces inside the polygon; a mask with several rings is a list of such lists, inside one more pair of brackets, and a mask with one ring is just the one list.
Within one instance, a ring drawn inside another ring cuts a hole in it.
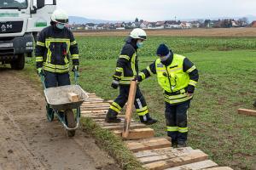
[{"label": "muddy brown dirt track beside the wooden plank path", "polygon": [[0,170],[116,170],[115,161],[89,134],[71,139],[48,122],[44,95],[9,69],[0,69]]}]

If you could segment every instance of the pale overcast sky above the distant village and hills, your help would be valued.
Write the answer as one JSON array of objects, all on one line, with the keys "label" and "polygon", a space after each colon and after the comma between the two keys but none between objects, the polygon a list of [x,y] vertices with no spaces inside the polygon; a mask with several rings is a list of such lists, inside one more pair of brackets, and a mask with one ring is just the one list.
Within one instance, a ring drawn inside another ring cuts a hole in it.
[{"label": "pale overcast sky above the distant village and hills", "polygon": [[256,0],[57,0],[69,15],[101,20],[173,20],[256,15]]}]

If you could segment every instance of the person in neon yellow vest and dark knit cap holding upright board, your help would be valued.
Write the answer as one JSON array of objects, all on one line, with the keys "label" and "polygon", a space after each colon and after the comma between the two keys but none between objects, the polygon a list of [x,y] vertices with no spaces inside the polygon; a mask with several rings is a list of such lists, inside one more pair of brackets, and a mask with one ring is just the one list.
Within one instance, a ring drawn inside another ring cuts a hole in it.
[{"label": "person in neon yellow vest and dark knit cap holding upright board", "polygon": [[160,58],[136,77],[138,82],[157,75],[164,90],[166,102],[167,134],[173,147],[185,147],[188,135],[187,111],[198,82],[198,71],[188,58],[173,54],[165,44],[160,44],[156,53]]}]

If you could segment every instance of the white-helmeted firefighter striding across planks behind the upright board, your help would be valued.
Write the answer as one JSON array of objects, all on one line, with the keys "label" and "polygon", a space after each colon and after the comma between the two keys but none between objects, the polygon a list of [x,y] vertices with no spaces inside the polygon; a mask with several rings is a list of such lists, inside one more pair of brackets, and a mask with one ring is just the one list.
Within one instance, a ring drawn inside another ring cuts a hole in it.
[{"label": "white-helmeted firefighter striding across planks behind the upright board", "polygon": [[[121,121],[117,115],[127,102],[131,80],[137,77],[138,74],[137,49],[143,46],[143,41],[146,39],[146,32],[140,28],[131,31],[130,36],[126,39],[125,46],[121,54],[119,54],[111,85],[115,89],[119,87],[119,96],[110,106],[106,116],[106,122]],[[157,122],[149,116],[148,106],[139,87],[137,87],[134,105],[141,122],[147,125]]]}]

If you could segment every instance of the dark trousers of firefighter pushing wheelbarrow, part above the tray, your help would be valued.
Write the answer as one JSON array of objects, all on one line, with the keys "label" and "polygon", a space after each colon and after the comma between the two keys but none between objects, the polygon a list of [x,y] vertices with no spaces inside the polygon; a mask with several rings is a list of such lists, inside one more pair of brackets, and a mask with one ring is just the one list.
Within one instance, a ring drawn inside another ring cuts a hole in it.
[{"label": "dark trousers of firefighter pushing wheelbarrow, part above the tray", "polygon": [[69,74],[44,71],[44,83],[46,88],[70,85]]}]

